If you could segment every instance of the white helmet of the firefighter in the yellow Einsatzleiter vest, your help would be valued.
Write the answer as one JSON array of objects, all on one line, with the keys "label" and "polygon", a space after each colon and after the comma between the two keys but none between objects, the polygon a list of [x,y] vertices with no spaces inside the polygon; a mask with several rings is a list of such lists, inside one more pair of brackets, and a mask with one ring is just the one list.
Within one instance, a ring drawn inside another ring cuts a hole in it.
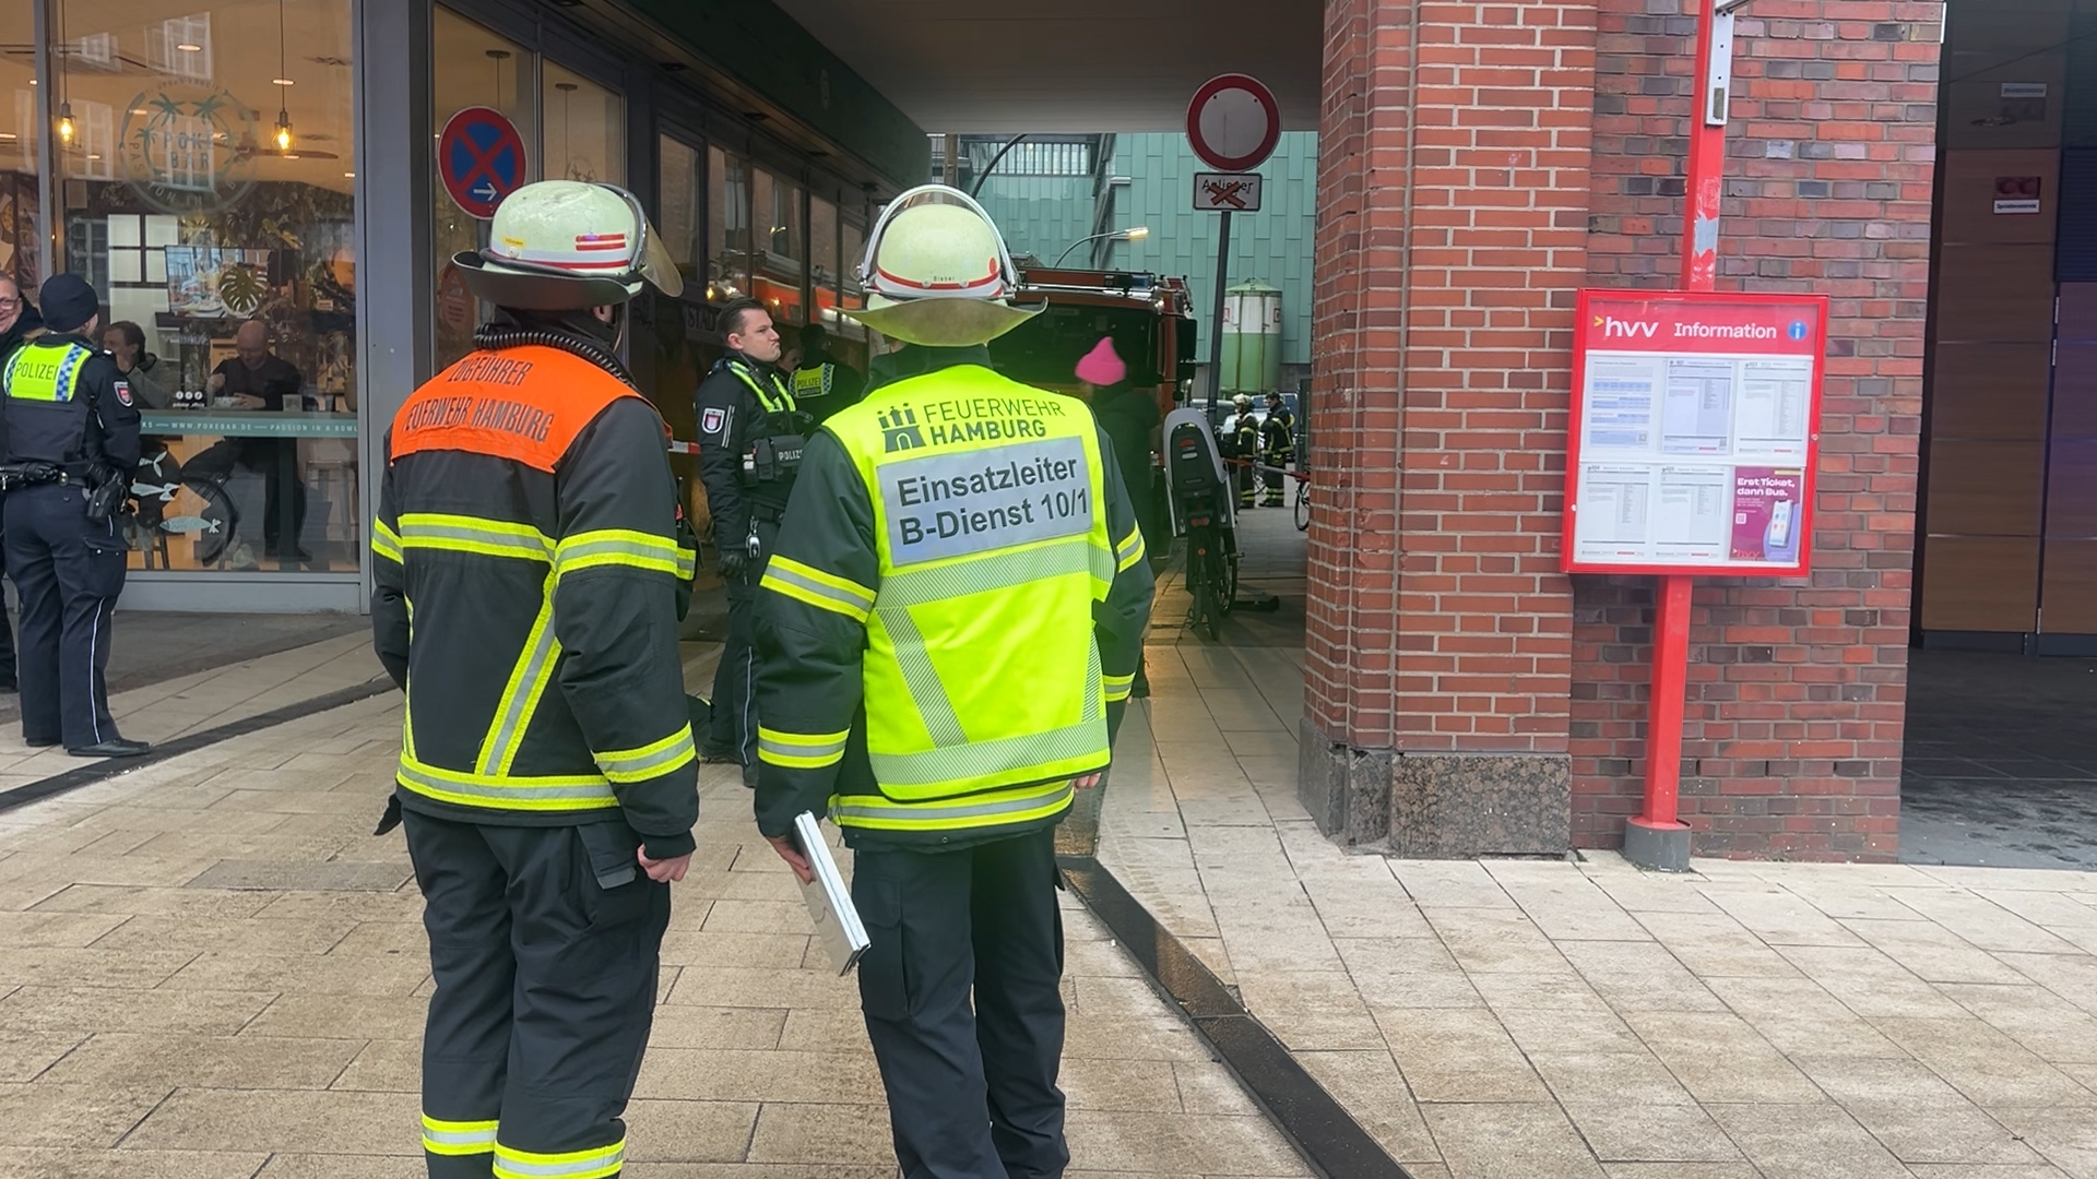
[{"label": "white helmet of the firefighter in the yellow Einsatzleiter vest", "polygon": [[866,308],[845,315],[906,344],[988,344],[1042,313],[1009,300],[1019,273],[983,206],[946,185],[889,201],[860,262]]}]

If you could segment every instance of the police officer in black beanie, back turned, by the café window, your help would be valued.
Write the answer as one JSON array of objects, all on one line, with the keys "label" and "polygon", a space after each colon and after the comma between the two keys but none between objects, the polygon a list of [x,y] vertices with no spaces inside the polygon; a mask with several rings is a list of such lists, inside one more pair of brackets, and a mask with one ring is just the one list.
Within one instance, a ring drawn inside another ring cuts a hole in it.
[{"label": "police officer in black beanie, back turned, by the caf\u00e9 window", "polygon": [[90,340],[94,287],[44,283],[44,336],[0,373],[6,571],[21,590],[21,736],[78,757],[136,757],[109,715],[109,615],[124,592],[117,516],[138,466],[138,409],[115,359]]}]

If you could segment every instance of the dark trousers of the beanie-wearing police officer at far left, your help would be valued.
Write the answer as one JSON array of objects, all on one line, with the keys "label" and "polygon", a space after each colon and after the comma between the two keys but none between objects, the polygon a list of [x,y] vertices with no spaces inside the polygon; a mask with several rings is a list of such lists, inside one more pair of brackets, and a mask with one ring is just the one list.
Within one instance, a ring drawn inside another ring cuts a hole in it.
[{"label": "dark trousers of the beanie-wearing police officer at far left", "polygon": [[78,483],[8,491],[6,573],[21,594],[21,736],[82,749],[117,738],[109,715],[109,615],[124,592],[115,520],[88,522]]}]

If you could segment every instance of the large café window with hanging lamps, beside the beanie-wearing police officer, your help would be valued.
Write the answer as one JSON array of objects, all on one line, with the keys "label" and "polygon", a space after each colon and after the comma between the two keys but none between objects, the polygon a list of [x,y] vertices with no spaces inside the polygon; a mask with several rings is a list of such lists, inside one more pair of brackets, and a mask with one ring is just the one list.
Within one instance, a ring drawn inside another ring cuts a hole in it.
[{"label": "large caf\u00e9 window with hanging lamps, beside the beanie-wearing police officer", "polygon": [[145,413],[132,566],[356,571],[350,2],[193,2],[57,21],[61,264]]}]

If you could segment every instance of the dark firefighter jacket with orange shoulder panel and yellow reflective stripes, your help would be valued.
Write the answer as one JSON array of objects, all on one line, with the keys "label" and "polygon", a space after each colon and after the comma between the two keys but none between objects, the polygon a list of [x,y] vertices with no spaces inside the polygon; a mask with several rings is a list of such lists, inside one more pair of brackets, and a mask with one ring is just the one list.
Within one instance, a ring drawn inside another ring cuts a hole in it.
[{"label": "dark firefighter jacket with orange shoulder panel and yellow reflective stripes", "polygon": [[409,396],[371,529],[380,659],[407,692],[396,801],[466,822],[625,818],[692,850],[663,420],[552,346],[472,352]]}]

